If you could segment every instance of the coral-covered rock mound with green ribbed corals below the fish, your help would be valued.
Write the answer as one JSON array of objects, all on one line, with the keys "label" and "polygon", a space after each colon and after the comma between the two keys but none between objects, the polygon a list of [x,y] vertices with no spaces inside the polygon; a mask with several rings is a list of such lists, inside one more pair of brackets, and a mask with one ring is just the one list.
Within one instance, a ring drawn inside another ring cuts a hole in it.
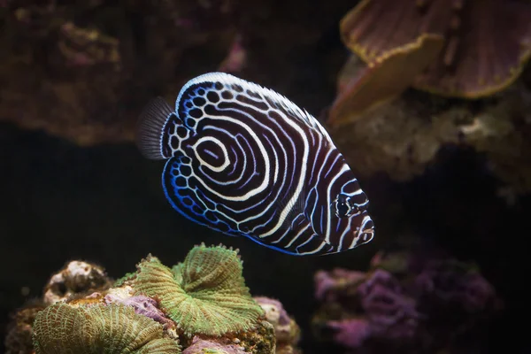
[{"label": "coral-covered rock mound with green ribbed corals below the fish", "polygon": [[[89,270],[96,266],[72,261],[51,279],[80,264]],[[298,335],[282,337],[281,348],[286,350],[276,349],[278,326],[257,302],[263,298],[250,296],[238,250],[201,244],[173,268],[149,255],[135,273],[112,286],[104,268],[98,270],[104,280],[98,282],[99,288],[81,287],[53,298],[45,291],[47,303],[41,300],[36,307],[28,303],[19,309],[6,338],[6,353],[204,352],[193,346],[197,342],[251,354],[299,352]],[[91,274],[82,272],[76,281],[89,283]],[[289,323],[298,331],[295,321]]]}]

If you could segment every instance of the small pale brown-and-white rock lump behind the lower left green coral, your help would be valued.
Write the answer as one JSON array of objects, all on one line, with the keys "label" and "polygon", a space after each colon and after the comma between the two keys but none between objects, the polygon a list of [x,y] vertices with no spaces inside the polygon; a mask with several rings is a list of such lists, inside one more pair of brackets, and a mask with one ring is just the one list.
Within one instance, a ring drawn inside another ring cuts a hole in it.
[{"label": "small pale brown-and-white rock lump behind the lower left green coral", "polygon": [[50,278],[43,299],[46,304],[55,304],[76,294],[102,291],[110,286],[111,280],[104,268],[76,260],[69,262]]}]

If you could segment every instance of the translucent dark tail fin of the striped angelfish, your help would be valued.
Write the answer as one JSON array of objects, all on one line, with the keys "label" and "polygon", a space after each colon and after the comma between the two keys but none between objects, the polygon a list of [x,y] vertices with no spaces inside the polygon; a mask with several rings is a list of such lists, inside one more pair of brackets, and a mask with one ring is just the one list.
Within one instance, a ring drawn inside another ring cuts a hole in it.
[{"label": "translucent dark tail fin of the striped angelfish", "polygon": [[138,150],[145,158],[170,158],[163,151],[163,136],[165,123],[172,114],[172,107],[162,97],[154,98],[143,109],[136,126],[135,140]]}]

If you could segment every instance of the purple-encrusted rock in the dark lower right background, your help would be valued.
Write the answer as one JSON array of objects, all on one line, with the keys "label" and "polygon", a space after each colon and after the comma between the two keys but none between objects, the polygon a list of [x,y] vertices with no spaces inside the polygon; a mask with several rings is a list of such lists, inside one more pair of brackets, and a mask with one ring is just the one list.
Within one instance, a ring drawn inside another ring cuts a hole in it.
[{"label": "purple-encrusted rock in the dark lower right background", "polygon": [[479,328],[500,308],[477,268],[442,255],[379,252],[361,274],[316,274],[322,306],[312,324],[321,339],[369,353],[382,345],[399,352],[450,350],[459,338],[481,336]]}]

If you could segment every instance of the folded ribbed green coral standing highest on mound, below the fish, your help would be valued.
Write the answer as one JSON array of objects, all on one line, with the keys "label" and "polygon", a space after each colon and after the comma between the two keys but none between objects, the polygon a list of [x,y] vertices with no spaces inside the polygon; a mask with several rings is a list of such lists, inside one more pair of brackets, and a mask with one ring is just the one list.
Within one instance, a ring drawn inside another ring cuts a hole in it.
[{"label": "folded ribbed green coral standing highest on mound, below the fish", "polygon": [[225,335],[256,327],[264,311],[250,296],[237,251],[204,244],[170,269],[148,256],[133,288],[157,297],[160,308],[186,335]]}]

